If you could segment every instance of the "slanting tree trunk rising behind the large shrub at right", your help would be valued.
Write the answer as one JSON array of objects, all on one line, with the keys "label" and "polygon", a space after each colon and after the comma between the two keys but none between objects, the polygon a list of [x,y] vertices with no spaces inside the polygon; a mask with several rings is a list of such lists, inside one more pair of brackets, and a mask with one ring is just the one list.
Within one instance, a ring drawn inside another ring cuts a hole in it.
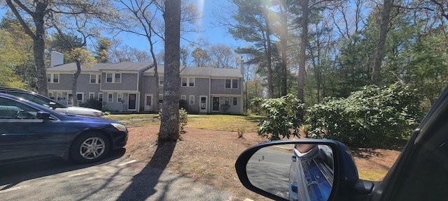
[{"label": "slanting tree trunk rising behind the large shrub at right", "polygon": [[381,62],[384,57],[384,44],[386,44],[387,24],[391,15],[393,0],[384,0],[383,12],[381,13],[381,24],[379,24],[379,37],[377,41],[377,50],[373,61],[371,84],[378,85],[381,72]]}]

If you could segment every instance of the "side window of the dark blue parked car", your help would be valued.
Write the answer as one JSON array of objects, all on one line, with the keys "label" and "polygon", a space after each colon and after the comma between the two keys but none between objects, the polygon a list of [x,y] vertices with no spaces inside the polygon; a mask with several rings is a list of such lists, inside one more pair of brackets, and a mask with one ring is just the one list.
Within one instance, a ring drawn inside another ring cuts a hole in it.
[{"label": "side window of the dark blue parked car", "polygon": [[18,101],[0,98],[0,119],[37,119],[38,110]]}]

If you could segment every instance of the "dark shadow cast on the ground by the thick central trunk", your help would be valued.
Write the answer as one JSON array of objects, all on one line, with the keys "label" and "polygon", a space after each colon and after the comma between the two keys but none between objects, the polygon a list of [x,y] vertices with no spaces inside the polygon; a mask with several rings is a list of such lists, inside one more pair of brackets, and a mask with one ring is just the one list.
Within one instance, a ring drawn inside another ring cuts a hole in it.
[{"label": "dark shadow cast on the ground by the thick central trunk", "polygon": [[[176,142],[165,142],[158,144],[151,161],[132,179],[132,184],[126,188],[117,200],[146,200],[154,195],[163,170],[167,168],[171,159]],[[148,153],[149,154],[149,153]],[[165,193],[161,193],[165,195]]]}]

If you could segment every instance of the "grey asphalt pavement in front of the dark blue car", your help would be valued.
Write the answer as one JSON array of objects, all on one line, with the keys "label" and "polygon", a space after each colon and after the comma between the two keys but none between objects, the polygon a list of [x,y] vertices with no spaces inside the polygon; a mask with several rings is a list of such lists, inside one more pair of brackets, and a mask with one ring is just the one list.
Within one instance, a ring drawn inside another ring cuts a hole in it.
[{"label": "grey asphalt pavement in front of the dark blue car", "polygon": [[249,200],[181,174],[148,168],[118,150],[78,165],[59,158],[0,165],[1,200]]}]

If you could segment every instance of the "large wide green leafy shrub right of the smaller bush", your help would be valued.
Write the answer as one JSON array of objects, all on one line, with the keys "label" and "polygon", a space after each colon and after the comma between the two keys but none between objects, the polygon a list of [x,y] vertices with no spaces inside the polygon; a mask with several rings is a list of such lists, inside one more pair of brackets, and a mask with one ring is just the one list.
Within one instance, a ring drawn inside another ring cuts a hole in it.
[{"label": "large wide green leafy shrub right of the smaller bush", "polygon": [[309,137],[357,146],[406,139],[422,117],[415,91],[401,82],[389,87],[366,86],[347,98],[325,98],[307,112]]}]

